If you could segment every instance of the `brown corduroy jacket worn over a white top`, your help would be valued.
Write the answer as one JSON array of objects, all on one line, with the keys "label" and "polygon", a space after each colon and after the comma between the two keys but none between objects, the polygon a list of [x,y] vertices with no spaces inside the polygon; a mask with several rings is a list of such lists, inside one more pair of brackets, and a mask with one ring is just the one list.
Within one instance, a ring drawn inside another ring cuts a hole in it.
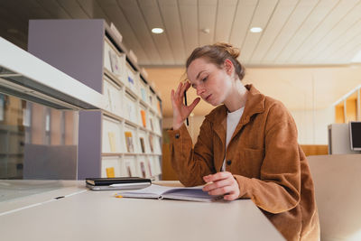
[{"label": "brown corduroy jacket worn over a white top", "polygon": [[252,199],[287,240],[319,240],[313,181],[293,118],[281,102],[246,88],[245,110],[227,149],[222,105],[205,117],[194,148],[185,125],[169,131],[172,166],[181,183],[195,186],[226,159],[239,198]]}]

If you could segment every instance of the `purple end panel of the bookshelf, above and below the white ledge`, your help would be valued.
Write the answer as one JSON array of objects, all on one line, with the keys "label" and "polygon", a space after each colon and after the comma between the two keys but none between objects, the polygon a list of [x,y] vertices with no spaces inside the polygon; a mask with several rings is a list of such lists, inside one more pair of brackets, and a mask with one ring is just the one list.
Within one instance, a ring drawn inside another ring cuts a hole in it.
[{"label": "purple end panel of the bookshelf, above and below the white ledge", "polygon": [[[58,70],[102,93],[105,22],[31,20],[28,50]],[[39,70],[42,71],[42,70]],[[100,177],[101,113],[79,112],[78,179]]]}]

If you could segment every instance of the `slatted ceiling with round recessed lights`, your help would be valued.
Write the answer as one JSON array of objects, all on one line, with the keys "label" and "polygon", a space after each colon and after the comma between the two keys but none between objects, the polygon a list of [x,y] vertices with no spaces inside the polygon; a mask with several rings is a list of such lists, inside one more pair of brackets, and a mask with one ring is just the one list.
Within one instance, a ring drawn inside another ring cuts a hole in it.
[{"label": "slatted ceiling with round recessed lights", "polygon": [[0,36],[23,49],[28,20],[46,18],[115,23],[143,66],[182,65],[218,41],[246,66],[347,64],[361,50],[360,0],[0,0]]}]

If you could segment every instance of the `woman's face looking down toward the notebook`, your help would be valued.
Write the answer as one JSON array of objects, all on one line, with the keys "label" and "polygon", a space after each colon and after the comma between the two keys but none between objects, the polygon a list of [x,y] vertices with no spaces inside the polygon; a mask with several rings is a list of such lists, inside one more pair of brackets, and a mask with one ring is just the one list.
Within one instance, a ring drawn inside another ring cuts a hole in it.
[{"label": "woman's face looking down toward the notebook", "polygon": [[204,58],[190,62],[187,69],[190,85],[197,90],[197,95],[212,106],[225,102],[231,88],[232,80],[225,67],[219,69]]}]

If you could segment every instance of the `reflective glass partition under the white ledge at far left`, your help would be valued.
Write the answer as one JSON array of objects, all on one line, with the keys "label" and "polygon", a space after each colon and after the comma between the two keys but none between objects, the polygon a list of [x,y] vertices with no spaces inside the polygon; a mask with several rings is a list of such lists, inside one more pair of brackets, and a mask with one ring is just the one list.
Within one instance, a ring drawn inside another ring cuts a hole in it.
[{"label": "reflective glass partition under the white ledge at far left", "polygon": [[76,180],[79,113],[0,93],[0,179]]}]

